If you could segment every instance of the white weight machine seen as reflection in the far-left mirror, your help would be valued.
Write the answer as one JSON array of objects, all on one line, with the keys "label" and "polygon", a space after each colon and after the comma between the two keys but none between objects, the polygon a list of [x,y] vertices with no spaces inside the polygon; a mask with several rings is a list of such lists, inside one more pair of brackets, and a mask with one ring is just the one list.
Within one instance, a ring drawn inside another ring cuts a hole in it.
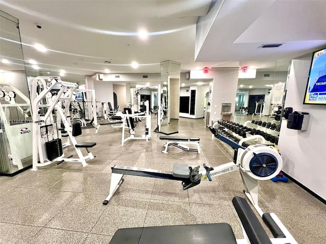
[{"label": "white weight machine seen as reflection in the far-left mirror", "polygon": [[22,160],[32,156],[32,108],[30,99],[11,83],[0,83],[0,118],[1,133],[7,135],[10,147],[4,158],[22,169]]}]

